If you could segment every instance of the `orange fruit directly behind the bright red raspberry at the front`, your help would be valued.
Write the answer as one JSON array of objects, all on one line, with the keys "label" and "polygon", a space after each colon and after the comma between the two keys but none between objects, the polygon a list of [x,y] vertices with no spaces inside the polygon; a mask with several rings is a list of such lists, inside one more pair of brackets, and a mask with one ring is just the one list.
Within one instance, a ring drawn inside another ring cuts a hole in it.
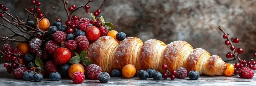
[{"label": "orange fruit directly behind the bright red raspberry at the front", "polygon": [[69,77],[72,78],[73,74],[77,71],[81,71],[82,73],[85,73],[85,69],[80,63],[75,63],[68,68]]}]

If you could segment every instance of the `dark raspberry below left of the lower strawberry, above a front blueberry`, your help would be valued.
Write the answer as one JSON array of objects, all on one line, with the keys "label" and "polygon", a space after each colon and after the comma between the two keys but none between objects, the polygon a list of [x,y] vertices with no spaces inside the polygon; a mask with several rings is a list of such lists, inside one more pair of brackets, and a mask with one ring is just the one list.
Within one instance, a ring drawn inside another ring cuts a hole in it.
[{"label": "dark raspberry below left of the lower strawberry, above a front blueberry", "polygon": [[52,60],[46,63],[45,70],[50,74],[58,72],[57,65]]}]

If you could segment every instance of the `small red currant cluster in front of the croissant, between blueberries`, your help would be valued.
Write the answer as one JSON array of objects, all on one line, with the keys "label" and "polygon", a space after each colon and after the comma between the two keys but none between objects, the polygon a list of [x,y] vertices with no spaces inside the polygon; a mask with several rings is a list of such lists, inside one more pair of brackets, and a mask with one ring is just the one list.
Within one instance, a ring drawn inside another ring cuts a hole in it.
[{"label": "small red currant cluster in front of the croissant, between blueberries", "polygon": [[162,65],[162,69],[163,70],[166,70],[164,73],[163,73],[163,79],[167,79],[170,75],[171,75],[171,80],[174,80],[175,79],[175,76],[176,76],[176,71],[175,70],[172,70],[171,73],[167,70],[167,65],[166,64],[163,64]]}]

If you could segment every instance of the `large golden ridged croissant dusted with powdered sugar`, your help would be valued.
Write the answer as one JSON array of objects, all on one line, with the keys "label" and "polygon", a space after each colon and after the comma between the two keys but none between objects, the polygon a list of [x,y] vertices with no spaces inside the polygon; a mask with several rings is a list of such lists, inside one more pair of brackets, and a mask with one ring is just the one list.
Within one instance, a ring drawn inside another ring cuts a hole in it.
[{"label": "large golden ridged croissant dusted with powdered sugar", "polygon": [[202,48],[195,48],[185,41],[174,41],[165,44],[160,40],[149,39],[144,43],[137,37],[125,38],[118,42],[115,38],[100,37],[87,49],[87,57],[110,73],[113,69],[122,70],[125,65],[132,64],[139,70],[153,68],[161,73],[166,64],[168,70],[184,67],[186,70],[198,71],[200,75],[224,75],[227,64],[219,56],[210,56]]}]

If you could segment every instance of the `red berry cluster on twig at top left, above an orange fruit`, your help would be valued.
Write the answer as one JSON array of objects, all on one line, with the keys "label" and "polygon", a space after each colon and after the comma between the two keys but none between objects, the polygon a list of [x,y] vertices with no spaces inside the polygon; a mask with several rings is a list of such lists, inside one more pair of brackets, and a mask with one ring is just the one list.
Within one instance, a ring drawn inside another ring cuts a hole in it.
[{"label": "red berry cluster on twig at top left, above an orange fruit", "polygon": [[[36,0],[31,0],[30,3],[32,5],[36,5],[36,6],[40,6],[41,5],[41,3],[39,1],[36,1]],[[39,19],[43,18],[43,13],[41,13],[40,10],[41,9],[39,7],[35,7],[35,6],[34,6],[34,8],[33,7],[29,8],[30,12],[37,13],[37,18],[39,18]]]}]

